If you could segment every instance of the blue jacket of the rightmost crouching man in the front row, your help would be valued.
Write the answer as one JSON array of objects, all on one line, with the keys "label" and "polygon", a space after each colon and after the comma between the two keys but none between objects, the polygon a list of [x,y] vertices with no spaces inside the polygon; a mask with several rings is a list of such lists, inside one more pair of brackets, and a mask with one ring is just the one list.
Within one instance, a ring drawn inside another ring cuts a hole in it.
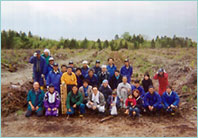
[{"label": "blue jacket of the rightmost crouching man in the front row", "polygon": [[168,95],[167,92],[164,92],[162,95],[162,103],[164,104],[165,108],[173,104],[174,106],[179,105],[179,96],[176,92],[172,91],[171,95]]}]

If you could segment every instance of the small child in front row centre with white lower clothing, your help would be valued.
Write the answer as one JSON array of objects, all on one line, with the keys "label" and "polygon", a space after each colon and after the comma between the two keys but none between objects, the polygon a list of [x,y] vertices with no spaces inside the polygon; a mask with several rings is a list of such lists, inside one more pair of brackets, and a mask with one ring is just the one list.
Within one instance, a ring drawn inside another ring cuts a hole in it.
[{"label": "small child in front row centre with white lower clothing", "polygon": [[107,100],[108,107],[111,115],[118,115],[118,109],[120,108],[120,98],[117,96],[117,92],[113,91],[112,95]]}]

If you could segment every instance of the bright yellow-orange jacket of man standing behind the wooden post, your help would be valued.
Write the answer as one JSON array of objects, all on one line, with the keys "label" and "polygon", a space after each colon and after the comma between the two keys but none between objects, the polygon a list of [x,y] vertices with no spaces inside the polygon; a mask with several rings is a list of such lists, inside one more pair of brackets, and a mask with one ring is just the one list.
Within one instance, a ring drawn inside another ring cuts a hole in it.
[{"label": "bright yellow-orange jacket of man standing behind the wooden post", "polygon": [[61,83],[65,83],[67,85],[77,85],[76,75],[73,72],[71,75],[69,75],[67,72],[63,73],[61,77]]}]

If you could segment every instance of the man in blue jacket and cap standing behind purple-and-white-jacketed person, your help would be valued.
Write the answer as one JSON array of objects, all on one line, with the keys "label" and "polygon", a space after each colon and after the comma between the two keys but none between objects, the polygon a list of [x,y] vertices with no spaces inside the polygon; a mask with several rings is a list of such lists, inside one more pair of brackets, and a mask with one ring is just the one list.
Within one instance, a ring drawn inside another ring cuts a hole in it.
[{"label": "man in blue jacket and cap standing behind purple-and-white-jacketed person", "polygon": [[60,94],[61,76],[62,73],[58,69],[58,64],[54,63],[53,70],[49,72],[47,77],[47,83],[46,83],[47,88],[49,87],[50,84],[53,84],[54,89],[58,91]]}]

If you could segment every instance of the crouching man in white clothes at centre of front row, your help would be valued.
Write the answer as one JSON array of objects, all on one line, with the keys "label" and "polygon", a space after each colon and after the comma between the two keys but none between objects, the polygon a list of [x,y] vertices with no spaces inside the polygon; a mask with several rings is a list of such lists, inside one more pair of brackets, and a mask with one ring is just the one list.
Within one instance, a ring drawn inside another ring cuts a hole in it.
[{"label": "crouching man in white clothes at centre of front row", "polygon": [[88,97],[87,107],[100,113],[105,112],[105,98],[104,95],[98,91],[97,86],[93,86],[92,93]]}]

